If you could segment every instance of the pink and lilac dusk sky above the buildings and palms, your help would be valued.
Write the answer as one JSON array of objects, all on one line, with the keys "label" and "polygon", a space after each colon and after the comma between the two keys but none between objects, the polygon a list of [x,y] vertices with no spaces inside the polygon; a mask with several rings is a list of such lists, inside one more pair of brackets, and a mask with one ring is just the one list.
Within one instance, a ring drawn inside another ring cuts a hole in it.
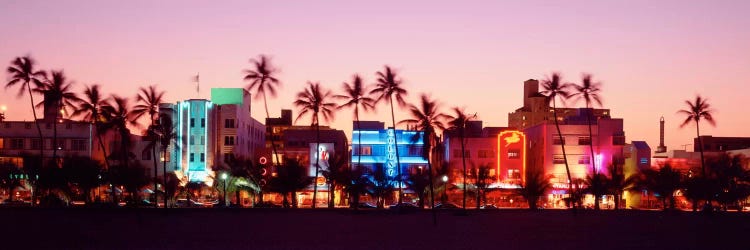
[{"label": "pink and lilac dusk sky above the buildings and palms", "polygon": [[[717,126],[701,124],[702,134],[750,136],[750,1],[311,2],[0,0],[0,63],[30,54],[41,69],[64,69],[77,90],[99,83],[132,98],[156,84],[174,102],[198,97],[198,72],[201,98],[246,87],[249,59],[268,54],[283,82],[271,116],[294,108],[308,80],[340,92],[352,74],[372,83],[388,64],[410,101],[428,93],[485,126],[507,126],[524,80],[559,71],[579,82],[586,72],[603,83],[604,107],[625,119],[628,141],[655,149],[663,115],[669,149],[693,143],[694,125],[680,129],[676,111],[696,94],[716,111]],[[31,120],[28,97],[16,93],[0,91],[0,105],[10,120]],[[263,121],[262,101],[253,104]],[[362,119],[389,115],[379,105]],[[342,111],[332,126],[350,132],[351,120]]]}]

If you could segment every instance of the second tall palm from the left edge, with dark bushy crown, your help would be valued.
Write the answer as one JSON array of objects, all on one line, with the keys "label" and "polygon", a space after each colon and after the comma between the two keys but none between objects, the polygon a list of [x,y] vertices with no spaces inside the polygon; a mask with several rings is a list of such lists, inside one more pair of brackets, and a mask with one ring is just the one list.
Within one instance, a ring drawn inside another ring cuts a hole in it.
[{"label": "second tall palm from the left edge, with dark bushy crown", "polygon": [[[44,85],[36,90],[44,95],[44,100],[39,102],[37,106],[59,108],[60,113],[62,113],[61,118],[64,118],[65,114],[69,114],[68,107],[75,107],[75,103],[79,102],[80,99],[72,91],[73,83],[68,81],[62,70],[53,70],[50,76],[51,78],[46,79]],[[52,126],[52,160],[55,164],[57,164],[57,150],[59,149],[57,143],[58,123],[60,123],[60,120],[55,118],[54,126]]]}]

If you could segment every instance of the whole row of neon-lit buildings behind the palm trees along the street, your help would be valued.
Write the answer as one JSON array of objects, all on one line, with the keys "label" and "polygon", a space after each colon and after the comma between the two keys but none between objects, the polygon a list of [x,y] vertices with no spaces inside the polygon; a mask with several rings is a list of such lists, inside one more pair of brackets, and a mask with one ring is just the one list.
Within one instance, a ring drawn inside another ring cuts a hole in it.
[{"label": "whole row of neon-lit buildings behind the palm trees along the street", "polygon": [[[482,121],[471,121],[464,133],[463,147],[457,131],[446,130],[440,135],[442,153],[433,155],[432,163],[447,168],[443,179],[450,187],[446,187],[445,192],[462,187],[463,157],[470,169],[480,166],[490,169],[489,188],[498,192],[494,192],[495,195],[487,201],[489,203],[512,206],[516,198],[512,191],[524,185],[527,172],[536,171],[551,176],[553,188],[544,199],[544,205],[548,207],[564,207],[563,199],[570,195],[566,160],[571,177],[585,179],[595,172],[609,174],[612,169],[609,166],[613,165],[622,166],[617,171],[632,175],[665,162],[690,165],[699,159],[693,152],[666,150],[663,119],[661,144],[652,153],[645,141],[626,140],[624,120],[613,118],[609,109],[554,110],[549,106],[548,97],[540,94],[539,82],[533,79],[524,82],[523,90],[523,106],[508,114],[508,126],[484,127]],[[340,154],[350,154],[354,168],[369,171],[382,169],[387,176],[394,178],[399,168],[402,173],[414,173],[425,169],[428,164],[422,157],[424,141],[418,131],[388,128],[379,121],[361,121],[359,126],[353,123],[352,139],[349,140],[344,131],[324,126],[320,128],[318,149],[316,132],[310,126],[294,125],[291,110],[282,110],[280,117],[261,123],[250,116],[251,109],[250,94],[240,88],[212,89],[210,100],[190,99],[161,104],[160,112],[172,117],[176,138],[169,145],[167,154],[160,153],[156,160],[166,162],[167,172],[174,172],[183,184],[203,182],[207,185],[212,185],[216,177],[213,170],[227,164],[230,158],[253,159],[262,164],[295,158],[309,167],[310,176],[315,175],[314,159],[319,159],[321,168],[325,170],[332,161],[331,156]],[[92,124],[64,118],[59,110],[59,107],[44,107],[44,117],[39,120],[44,142],[38,140],[34,122],[0,122],[0,163],[24,166],[24,159],[37,157],[42,147],[45,158],[52,157],[53,147],[57,147],[60,156],[87,156],[101,161],[105,156],[103,149],[107,153],[119,152],[122,138],[116,133],[103,136],[105,146],[102,148]],[[555,127],[555,111],[560,136]],[[55,126],[58,145],[53,146],[51,138]],[[154,159],[148,147],[150,138],[140,135],[130,137],[134,142],[130,149],[131,159],[140,161],[147,167],[145,174],[153,176],[151,166]],[[748,138],[707,136],[698,139],[703,140],[704,149],[709,152],[750,148]],[[276,144],[279,154],[276,157],[271,153],[271,142]],[[561,144],[565,145],[565,155]],[[697,150],[699,144],[695,145]],[[163,175],[162,170],[157,169],[156,174]],[[474,183],[475,180],[471,178],[475,177],[470,175],[467,182]],[[341,192],[328,190],[325,179],[320,176],[312,185],[318,185],[320,203],[327,202],[328,192]],[[309,205],[312,202],[312,189],[310,186],[298,192],[294,198],[300,204]],[[267,199],[278,199],[273,194],[267,195]],[[405,195],[414,198],[409,191],[405,191]],[[640,192],[626,194],[625,206],[644,206],[641,196]],[[614,199],[604,198],[605,205],[611,204]],[[591,201],[593,197],[586,199]]]}]

